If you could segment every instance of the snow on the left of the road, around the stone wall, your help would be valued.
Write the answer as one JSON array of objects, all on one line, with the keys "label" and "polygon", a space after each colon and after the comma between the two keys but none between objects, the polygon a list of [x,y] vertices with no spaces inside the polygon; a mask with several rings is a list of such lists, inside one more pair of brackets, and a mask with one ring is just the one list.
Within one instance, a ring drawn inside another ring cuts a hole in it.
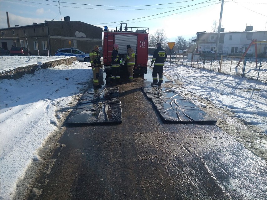
[{"label": "snow on the left of the road, around the stone wall", "polygon": [[[62,57],[58,57],[62,59]],[[0,71],[56,57],[0,56]],[[11,199],[16,181],[32,161],[45,139],[60,126],[72,103],[92,80],[88,63],[41,69],[14,80],[0,80],[0,199]],[[66,80],[65,78],[68,78]]]}]

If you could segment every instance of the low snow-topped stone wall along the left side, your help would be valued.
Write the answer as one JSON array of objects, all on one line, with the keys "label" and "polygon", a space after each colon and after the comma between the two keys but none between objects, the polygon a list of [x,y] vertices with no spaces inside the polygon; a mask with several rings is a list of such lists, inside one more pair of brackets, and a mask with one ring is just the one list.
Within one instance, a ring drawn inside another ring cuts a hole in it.
[{"label": "low snow-topped stone wall along the left side", "polygon": [[24,67],[18,67],[16,69],[10,69],[9,71],[4,71],[0,73],[0,79],[19,79],[24,74],[33,74],[36,70],[55,67],[60,64],[71,65],[76,60],[77,60],[76,57],[71,57],[71,58],[63,58],[58,60],[47,61],[43,64],[36,63]]}]

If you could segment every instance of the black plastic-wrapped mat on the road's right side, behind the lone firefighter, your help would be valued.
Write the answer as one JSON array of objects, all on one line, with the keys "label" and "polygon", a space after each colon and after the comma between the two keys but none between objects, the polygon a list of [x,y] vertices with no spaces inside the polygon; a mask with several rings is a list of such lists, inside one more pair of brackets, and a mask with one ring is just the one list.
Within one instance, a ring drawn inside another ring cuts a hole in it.
[{"label": "black plastic-wrapped mat on the road's right side, behind the lone firefighter", "polygon": [[186,100],[170,88],[142,88],[146,96],[153,102],[165,122],[173,123],[216,123],[206,112],[190,100]]}]

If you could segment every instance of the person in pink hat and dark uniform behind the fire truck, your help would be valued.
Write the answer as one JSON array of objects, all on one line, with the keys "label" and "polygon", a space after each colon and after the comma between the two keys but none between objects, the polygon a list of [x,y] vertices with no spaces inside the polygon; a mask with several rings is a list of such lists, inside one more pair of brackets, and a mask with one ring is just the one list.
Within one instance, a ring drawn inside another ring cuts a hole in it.
[{"label": "person in pink hat and dark uniform behind the fire truck", "polygon": [[121,84],[120,82],[120,64],[122,61],[119,59],[119,46],[118,44],[113,44],[113,51],[111,55],[111,66],[112,72],[110,76],[110,85],[113,85],[113,82],[116,80],[117,84]]}]

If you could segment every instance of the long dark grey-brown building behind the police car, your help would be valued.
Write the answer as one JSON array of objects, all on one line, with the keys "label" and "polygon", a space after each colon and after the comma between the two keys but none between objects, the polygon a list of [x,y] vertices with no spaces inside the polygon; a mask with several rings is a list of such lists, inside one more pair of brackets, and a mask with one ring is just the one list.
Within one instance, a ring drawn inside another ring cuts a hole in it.
[{"label": "long dark grey-brown building behind the police car", "polygon": [[[0,47],[10,50],[12,45],[29,48],[33,55],[55,55],[60,48],[71,47],[89,53],[94,45],[102,47],[102,28],[80,21],[44,21],[27,26],[0,29]],[[28,41],[28,44],[27,44]]]}]

